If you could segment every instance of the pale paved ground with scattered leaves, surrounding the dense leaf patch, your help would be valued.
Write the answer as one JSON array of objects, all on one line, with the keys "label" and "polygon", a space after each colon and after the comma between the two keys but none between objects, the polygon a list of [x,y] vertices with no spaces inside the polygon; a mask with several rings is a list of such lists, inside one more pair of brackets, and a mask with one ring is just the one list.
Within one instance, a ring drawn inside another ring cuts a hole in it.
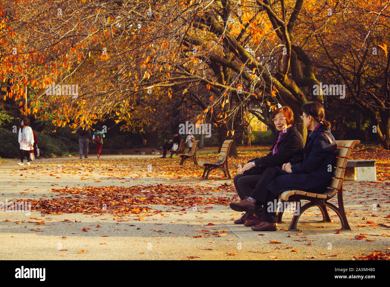
[{"label": "pale paved ground with scattered leaves, surrounding the dense leaf patch", "polygon": [[[232,185],[232,180],[199,180],[197,174],[172,176],[172,170],[177,169],[199,172],[193,164],[177,166],[177,157],[166,159],[166,166],[157,167],[154,163],[155,171],[151,176],[147,162],[156,157],[159,156],[113,155],[100,161],[95,158],[43,159],[30,166],[7,161],[0,164],[0,201],[59,196],[51,191],[53,188],[161,183],[179,184],[178,196],[182,185],[204,186],[210,198],[234,196],[232,192],[219,192],[217,188]],[[206,190],[206,187],[212,188]],[[390,182],[349,182],[344,184],[344,189],[347,218],[353,230],[340,234],[335,234],[340,228],[339,222],[318,223],[322,216],[317,208],[307,210],[301,217],[298,228],[302,231],[261,232],[264,235],[232,223],[241,214],[223,205],[198,205],[196,209],[149,205],[152,211],[161,212],[128,216],[41,214],[39,210],[29,215],[0,212],[0,258],[348,260],[359,252],[367,255],[387,250],[386,245],[390,246],[390,237],[385,236],[390,235]],[[291,215],[285,215],[286,223],[280,225],[280,229],[287,228]],[[333,219],[339,221],[337,216]],[[40,222],[43,224],[38,224]]]}]

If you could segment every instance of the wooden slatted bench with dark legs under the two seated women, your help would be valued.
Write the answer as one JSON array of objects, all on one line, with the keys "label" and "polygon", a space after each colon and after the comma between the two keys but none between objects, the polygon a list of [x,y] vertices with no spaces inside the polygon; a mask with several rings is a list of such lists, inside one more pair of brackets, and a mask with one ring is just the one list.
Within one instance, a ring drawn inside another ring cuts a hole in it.
[{"label": "wooden slatted bench with dark legs under the two seated women", "polygon": [[[336,212],[337,216],[339,216],[341,221],[341,229],[351,230],[344,210],[342,183],[349,155],[353,149],[353,146],[358,143],[360,143],[358,140],[336,141],[338,155],[336,158],[335,167],[333,167],[333,178],[330,186],[323,193],[308,193],[299,190],[289,190],[279,194],[279,199],[282,201],[282,208],[280,212],[278,212],[278,223],[282,223],[282,216],[285,208],[284,201],[296,201],[297,207],[295,207],[294,216],[287,231],[296,230],[299,217],[303,214],[303,212],[305,212],[305,210],[313,206],[317,206],[321,210],[321,214],[323,216],[323,221],[321,222],[331,222],[328,211],[326,210],[328,207]],[[339,207],[336,207],[332,203],[328,202],[328,200],[330,200],[336,194]],[[309,202],[301,207],[300,200],[308,200]],[[298,213],[297,208],[299,208],[299,214],[296,214]]]}]

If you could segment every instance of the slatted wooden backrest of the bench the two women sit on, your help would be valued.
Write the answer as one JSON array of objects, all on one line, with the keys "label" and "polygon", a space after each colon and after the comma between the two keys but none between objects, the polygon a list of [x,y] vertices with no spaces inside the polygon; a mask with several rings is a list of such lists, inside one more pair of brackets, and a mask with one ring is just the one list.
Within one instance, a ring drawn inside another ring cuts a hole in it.
[{"label": "slatted wooden backrest of the bench the two women sit on", "polygon": [[358,143],[360,143],[359,140],[336,141],[337,157],[333,170],[332,182],[329,185],[329,187],[331,189],[334,189],[334,191],[332,192],[332,194],[329,194],[330,197],[334,196],[337,192],[340,191],[349,155],[351,154],[351,151],[355,144]]}]

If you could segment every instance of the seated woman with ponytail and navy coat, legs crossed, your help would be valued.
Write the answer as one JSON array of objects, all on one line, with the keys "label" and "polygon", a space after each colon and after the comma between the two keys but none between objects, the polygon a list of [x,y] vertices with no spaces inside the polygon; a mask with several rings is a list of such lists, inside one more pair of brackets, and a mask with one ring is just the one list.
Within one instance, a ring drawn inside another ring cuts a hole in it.
[{"label": "seated woman with ponytail and navy coat, legs crossed", "polygon": [[283,164],[282,169],[267,168],[250,197],[230,204],[232,209],[246,212],[255,210],[256,201],[263,205],[261,222],[252,226],[252,230],[277,230],[277,207],[274,205],[279,193],[294,189],[323,193],[332,180],[335,161],[332,143],[335,146],[336,141],[330,133],[330,123],[325,120],[324,107],[318,102],[308,102],[301,109],[305,127],[312,130],[302,150],[302,162],[292,160]]}]

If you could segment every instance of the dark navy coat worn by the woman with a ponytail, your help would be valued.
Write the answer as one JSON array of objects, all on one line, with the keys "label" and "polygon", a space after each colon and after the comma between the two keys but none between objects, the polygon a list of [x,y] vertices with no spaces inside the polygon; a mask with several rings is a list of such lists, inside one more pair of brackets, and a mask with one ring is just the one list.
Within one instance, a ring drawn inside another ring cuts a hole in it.
[{"label": "dark navy coat worn by the woman with a ponytail", "polygon": [[323,132],[330,136],[336,146],[335,138],[330,130],[320,127],[312,132],[307,137],[305,148],[302,150],[302,162],[291,166],[293,173],[275,177],[267,185],[271,193],[277,195],[287,190],[324,192],[332,180],[335,154],[328,137],[322,134]]}]

